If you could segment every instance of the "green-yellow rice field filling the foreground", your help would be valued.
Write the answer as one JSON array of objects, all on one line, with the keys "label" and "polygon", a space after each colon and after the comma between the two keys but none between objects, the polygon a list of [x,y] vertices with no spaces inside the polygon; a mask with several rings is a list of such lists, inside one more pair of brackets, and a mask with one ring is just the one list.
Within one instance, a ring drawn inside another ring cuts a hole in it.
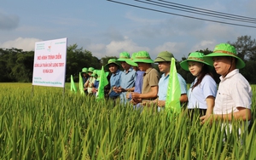
[{"label": "green-yellow rice field filling the foreground", "polygon": [[[256,159],[255,123],[237,133],[32,83],[0,83],[1,159]],[[253,95],[256,85],[252,85]],[[253,96],[253,119],[255,119]]]}]

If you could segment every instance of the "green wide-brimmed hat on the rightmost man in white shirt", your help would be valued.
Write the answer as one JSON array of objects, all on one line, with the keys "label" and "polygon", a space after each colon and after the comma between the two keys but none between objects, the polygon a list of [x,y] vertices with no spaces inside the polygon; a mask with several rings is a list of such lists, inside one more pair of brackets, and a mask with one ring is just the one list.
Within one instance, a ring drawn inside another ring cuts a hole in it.
[{"label": "green wide-brimmed hat on the rightmost man in white shirt", "polygon": [[239,58],[236,54],[236,49],[234,46],[229,43],[220,43],[215,46],[212,54],[207,54],[204,56],[204,60],[207,61],[210,65],[213,65],[212,57],[219,56],[230,56],[237,59],[236,68],[241,69],[245,66],[245,63],[241,58]]}]

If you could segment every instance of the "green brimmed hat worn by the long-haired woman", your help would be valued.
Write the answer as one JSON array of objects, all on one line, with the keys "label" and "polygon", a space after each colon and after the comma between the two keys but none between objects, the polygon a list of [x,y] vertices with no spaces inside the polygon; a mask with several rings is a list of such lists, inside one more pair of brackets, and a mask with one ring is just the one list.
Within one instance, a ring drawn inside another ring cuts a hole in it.
[{"label": "green brimmed hat worn by the long-haired woman", "polygon": [[203,59],[204,55],[205,54],[202,54],[200,52],[192,52],[192,53],[189,54],[189,57],[188,57],[187,60],[183,60],[182,62],[180,62],[180,66],[184,70],[189,71],[188,61],[197,61],[197,62],[201,62],[203,64],[206,64],[207,66],[209,66],[208,68],[210,70],[212,70],[213,67]]}]

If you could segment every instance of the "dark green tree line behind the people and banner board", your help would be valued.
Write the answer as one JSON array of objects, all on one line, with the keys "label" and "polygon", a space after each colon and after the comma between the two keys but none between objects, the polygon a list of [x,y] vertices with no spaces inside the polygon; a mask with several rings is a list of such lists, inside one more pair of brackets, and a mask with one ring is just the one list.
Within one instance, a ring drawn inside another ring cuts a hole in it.
[{"label": "dark green tree line behind the people and banner board", "polygon": [[[238,37],[235,43],[227,42],[236,47],[236,51],[241,60],[244,60],[246,66],[240,70],[241,74],[247,78],[251,84],[256,84],[256,41],[250,36]],[[204,54],[212,53],[212,50],[197,50]],[[171,51],[172,52],[172,51]],[[189,53],[188,53],[189,54]],[[96,56],[86,49],[78,48],[77,44],[67,47],[67,68],[66,82],[70,82],[70,75],[73,75],[75,82],[79,81],[79,71],[83,67],[94,67],[101,69],[115,56],[105,56],[98,59]],[[186,60],[183,57],[182,60]],[[0,82],[20,82],[32,83],[34,51],[23,51],[22,49],[1,49],[0,48]],[[192,83],[195,79],[189,71],[184,71],[177,60],[177,72],[180,73],[187,83]],[[157,68],[157,67],[155,67]],[[157,68],[158,69],[158,68]],[[218,74],[212,70],[215,81],[219,82]]]}]

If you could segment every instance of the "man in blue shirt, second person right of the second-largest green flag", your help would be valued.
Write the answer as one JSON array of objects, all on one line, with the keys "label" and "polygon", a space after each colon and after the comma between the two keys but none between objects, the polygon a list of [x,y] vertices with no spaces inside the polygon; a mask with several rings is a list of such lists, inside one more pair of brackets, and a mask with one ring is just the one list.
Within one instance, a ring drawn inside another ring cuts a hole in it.
[{"label": "man in blue shirt, second person right of the second-largest green flag", "polygon": [[122,52],[119,54],[118,61],[120,62],[121,66],[123,67],[124,71],[122,71],[121,79],[120,79],[120,87],[115,91],[119,93],[120,102],[122,104],[126,104],[129,99],[126,98],[127,91],[133,89],[135,83],[135,73],[136,71],[133,70],[131,65],[126,63],[126,60],[130,59],[130,54],[127,52]]}]

